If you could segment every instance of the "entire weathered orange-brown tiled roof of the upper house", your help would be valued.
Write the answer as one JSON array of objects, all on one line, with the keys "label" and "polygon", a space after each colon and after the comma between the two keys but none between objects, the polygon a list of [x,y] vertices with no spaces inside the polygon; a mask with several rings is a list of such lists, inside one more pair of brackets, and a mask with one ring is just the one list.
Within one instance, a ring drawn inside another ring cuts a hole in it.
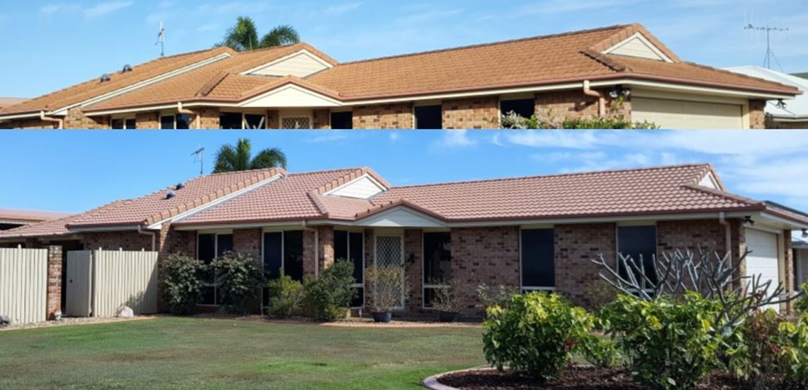
[{"label": "entire weathered orange-brown tiled roof of the upper house", "polygon": [[[670,61],[607,53],[612,46],[637,34]],[[245,74],[248,70],[301,50],[313,54],[328,66],[304,77]],[[624,78],[750,93],[800,93],[796,88],[781,83],[682,61],[642,25],[629,24],[345,63],[338,63],[302,43],[245,53],[235,53],[227,48],[210,49],[160,58],[135,66],[133,72],[113,73],[112,81],[107,83],[94,79],[23,104],[2,108],[0,116],[65,108],[222,54],[227,57],[221,61],[213,61],[110,99],[86,104],[82,109],[91,113],[179,102],[214,105],[243,102],[289,83],[345,103],[444,92],[540,87],[580,83],[583,80],[619,81]]]}]

